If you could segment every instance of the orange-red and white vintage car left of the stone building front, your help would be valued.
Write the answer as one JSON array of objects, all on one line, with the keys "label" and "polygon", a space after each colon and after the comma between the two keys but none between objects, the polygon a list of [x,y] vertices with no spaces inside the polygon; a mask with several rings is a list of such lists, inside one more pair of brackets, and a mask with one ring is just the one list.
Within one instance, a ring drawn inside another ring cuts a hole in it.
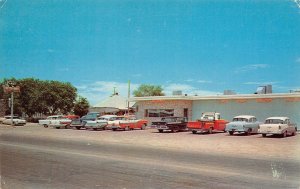
[{"label": "orange-red and white vintage car left of the stone building front", "polygon": [[146,129],[148,121],[144,119],[136,119],[133,116],[127,116],[123,118],[122,120],[119,121],[119,124],[112,125],[111,129],[113,131],[116,130],[124,130],[124,131],[129,131],[129,130],[134,130],[134,129],[141,129],[144,130]]}]

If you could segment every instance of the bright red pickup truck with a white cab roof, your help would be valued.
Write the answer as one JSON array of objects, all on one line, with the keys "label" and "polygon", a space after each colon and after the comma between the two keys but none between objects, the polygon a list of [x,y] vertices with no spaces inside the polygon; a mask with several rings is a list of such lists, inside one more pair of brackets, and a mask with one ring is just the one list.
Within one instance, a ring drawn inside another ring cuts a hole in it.
[{"label": "bright red pickup truck with a white cab roof", "polygon": [[213,131],[225,132],[225,127],[228,122],[227,120],[221,119],[220,113],[205,112],[202,114],[200,120],[189,121],[187,127],[193,134],[196,134],[198,131],[211,134]]}]

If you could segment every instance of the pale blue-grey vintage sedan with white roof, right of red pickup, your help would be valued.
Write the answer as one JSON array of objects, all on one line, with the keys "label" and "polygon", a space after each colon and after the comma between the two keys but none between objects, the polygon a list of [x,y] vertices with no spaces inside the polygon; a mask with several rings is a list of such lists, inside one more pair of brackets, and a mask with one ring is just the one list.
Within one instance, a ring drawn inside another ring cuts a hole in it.
[{"label": "pale blue-grey vintage sedan with white roof, right of red pickup", "polygon": [[257,133],[260,122],[257,121],[255,116],[252,115],[239,115],[233,118],[232,122],[226,124],[225,131],[230,135],[234,132],[246,133]]}]

